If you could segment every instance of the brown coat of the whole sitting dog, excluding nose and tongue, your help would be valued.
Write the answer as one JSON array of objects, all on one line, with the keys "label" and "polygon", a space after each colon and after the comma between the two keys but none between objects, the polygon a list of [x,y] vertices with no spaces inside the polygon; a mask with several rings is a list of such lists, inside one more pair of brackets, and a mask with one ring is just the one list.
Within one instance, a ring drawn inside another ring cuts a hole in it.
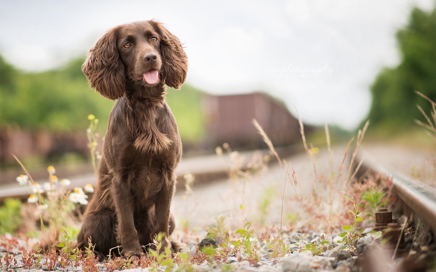
[{"label": "brown coat of the whole sitting dog, excluding nose and tongue", "polygon": [[[156,55],[154,62],[146,60],[150,53]],[[182,145],[164,84],[180,88],[187,57],[179,39],[162,24],[140,21],[104,34],[89,50],[82,70],[92,88],[118,100],[109,115],[99,181],[78,245],[84,249],[91,237],[100,257],[117,245],[123,255],[140,255],[154,235],[169,236],[175,227],[170,203]],[[151,70],[159,73],[155,84],[142,76]],[[178,249],[176,242],[171,245]]]}]

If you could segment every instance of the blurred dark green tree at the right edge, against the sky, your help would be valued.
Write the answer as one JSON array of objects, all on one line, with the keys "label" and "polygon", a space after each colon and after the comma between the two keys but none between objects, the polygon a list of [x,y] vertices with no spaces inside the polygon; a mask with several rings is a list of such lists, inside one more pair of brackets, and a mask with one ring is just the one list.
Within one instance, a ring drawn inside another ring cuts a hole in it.
[{"label": "blurred dark green tree at the right edge, against the sky", "polygon": [[385,67],[371,85],[371,125],[388,131],[399,131],[423,120],[416,104],[429,113],[431,105],[417,95],[420,91],[436,99],[436,9],[426,12],[414,8],[409,24],[397,31],[401,62]]}]

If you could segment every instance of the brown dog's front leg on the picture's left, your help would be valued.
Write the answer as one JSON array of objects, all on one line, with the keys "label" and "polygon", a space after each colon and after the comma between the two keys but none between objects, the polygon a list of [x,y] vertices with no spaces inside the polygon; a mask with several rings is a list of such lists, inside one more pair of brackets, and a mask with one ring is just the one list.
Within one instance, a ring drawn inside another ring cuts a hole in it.
[{"label": "brown dog's front leg on the picture's left", "polygon": [[135,223],[133,221],[133,195],[126,186],[128,181],[123,181],[119,176],[114,176],[112,186],[114,204],[118,225],[116,235],[122,247],[121,254],[125,256],[140,255],[143,253],[138,240]]}]

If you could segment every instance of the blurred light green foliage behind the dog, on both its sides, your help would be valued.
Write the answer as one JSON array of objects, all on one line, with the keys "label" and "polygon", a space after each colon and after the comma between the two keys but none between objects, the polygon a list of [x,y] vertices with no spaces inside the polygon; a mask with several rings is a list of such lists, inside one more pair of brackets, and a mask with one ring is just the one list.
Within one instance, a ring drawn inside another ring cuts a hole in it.
[{"label": "blurred light green foliage behind the dog, on both its sides", "polygon": [[[26,129],[77,131],[88,127],[87,116],[100,119],[99,131],[106,131],[114,104],[90,90],[82,73],[83,59],[60,69],[24,73],[6,63],[0,55],[0,125],[16,124]],[[183,141],[203,135],[202,92],[184,84],[181,90],[168,89],[167,102],[173,111]]]}]

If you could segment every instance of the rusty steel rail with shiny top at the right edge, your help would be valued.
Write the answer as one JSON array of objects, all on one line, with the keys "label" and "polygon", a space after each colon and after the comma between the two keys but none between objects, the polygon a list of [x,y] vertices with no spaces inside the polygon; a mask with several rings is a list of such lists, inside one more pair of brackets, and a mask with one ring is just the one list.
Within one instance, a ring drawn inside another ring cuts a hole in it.
[{"label": "rusty steel rail with shiny top at the right edge", "polygon": [[[356,161],[361,161],[363,156],[363,152],[359,153]],[[412,177],[389,171],[373,158],[365,155],[358,175],[364,175],[368,172],[392,177],[393,189],[397,197],[419,215],[433,230],[433,233],[436,233],[436,188]]]}]

